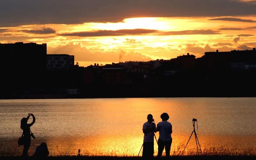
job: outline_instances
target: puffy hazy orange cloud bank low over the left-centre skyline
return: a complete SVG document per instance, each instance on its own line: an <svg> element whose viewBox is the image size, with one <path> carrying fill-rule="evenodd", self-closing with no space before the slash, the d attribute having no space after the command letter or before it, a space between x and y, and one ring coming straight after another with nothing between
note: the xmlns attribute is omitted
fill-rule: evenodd
<svg viewBox="0 0 256 160"><path fill-rule="evenodd" d="M75 61L86 62L118 62L122 52L124 61L150 61L150 57L142 55L138 51L125 51L120 49L102 50L98 48L87 48L81 43L68 43L57 47L47 47L47 54L68 54L75 55Z"/></svg>

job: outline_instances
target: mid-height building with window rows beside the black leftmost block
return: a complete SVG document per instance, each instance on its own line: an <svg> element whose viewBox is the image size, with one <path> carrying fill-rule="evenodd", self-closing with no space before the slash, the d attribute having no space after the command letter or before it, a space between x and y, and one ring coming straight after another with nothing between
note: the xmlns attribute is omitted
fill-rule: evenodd
<svg viewBox="0 0 256 160"><path fill-rule="evenodd" d="M55 69L71 69L74 67L74 55L47 55L46 68L48 70Z"/></svg>

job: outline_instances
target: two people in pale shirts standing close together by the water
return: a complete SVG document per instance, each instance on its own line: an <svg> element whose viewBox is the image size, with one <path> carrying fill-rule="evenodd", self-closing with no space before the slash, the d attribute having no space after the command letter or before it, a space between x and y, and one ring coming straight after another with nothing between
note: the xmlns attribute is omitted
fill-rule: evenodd
<svg viewBox="0 0 256 160"><path fill-rule="evenodd" d="M166 157L170 156L170 150L172 145L172 124L168 122L169 115L167 113L161 114L162 122L157 124L153 123L154 119L152 114L148 114L148 121L143 124L143 151L142 157L154 156L154 135L159 131L158 138L158 154L157 157L161 157L165 148Z"/></svg>

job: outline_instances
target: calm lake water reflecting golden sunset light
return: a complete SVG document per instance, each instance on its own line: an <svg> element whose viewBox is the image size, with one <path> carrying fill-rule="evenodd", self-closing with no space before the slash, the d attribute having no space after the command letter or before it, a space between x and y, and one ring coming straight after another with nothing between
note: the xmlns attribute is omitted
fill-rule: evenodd
<svg viewBox="0 0 256 160"><path fill-rule="evenodd" d="M20 120L34 113L30 155L41 142L51 155L137 155L147 115L158 123L163 112L173 126L172 149L187 143L193 118L202 148L256 146L256 98L31 99L0 100L0 150L21 152ZM192 136L188 148L194 147Z"/></svg>

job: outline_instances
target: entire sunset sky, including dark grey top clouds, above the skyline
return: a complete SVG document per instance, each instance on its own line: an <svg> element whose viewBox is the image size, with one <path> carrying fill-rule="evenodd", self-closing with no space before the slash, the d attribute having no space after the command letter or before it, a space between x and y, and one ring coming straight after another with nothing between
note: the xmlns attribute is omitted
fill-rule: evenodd
<svg viewBox="0 0 256 160"><path fill-rule="evenodd" d="M256 47L255 0L1 0L0 42L93 63Z"/></svg>

